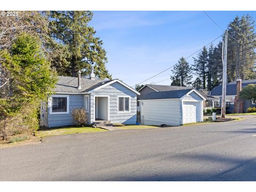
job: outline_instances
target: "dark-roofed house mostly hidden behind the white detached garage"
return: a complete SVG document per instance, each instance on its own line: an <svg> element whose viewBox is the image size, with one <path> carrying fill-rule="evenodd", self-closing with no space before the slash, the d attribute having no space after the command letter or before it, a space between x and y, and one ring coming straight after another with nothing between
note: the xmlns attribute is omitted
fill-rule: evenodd
<svg viewBox="0 0 256 192"><path fill-rule="evenodd" d="M161 92L161 91L173 91L173 90L192 90L194 89L193 87L186 87L186 86L170 86L170 85L151 85L151 84L146 84L141 89L139 90L140 95L138 95L137 99L139 100L140 98L143 98L146 94L151 93L151 92ZM197 90L201 95L205 98L203 101L203 107L204 109L212 109L214 108L214 102L218 101L215 97L201 91ZM215 102L217 105L218 103ZM139 101L137 102L138 110L139 109Z"/></svg>

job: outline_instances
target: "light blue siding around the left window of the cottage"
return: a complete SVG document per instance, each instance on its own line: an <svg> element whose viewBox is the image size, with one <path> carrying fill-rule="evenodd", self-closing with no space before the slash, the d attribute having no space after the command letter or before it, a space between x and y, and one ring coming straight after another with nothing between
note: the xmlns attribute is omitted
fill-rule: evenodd
<svg viewBox="0 0 256 192"><path fill-rule="evenodd" d="M50 102L50 101L49 101ZM68 114L50 114L50 103L48 103L48 127L73 125L71 110L74 107L84 107L84 94L69 94L69 113Z"/></svg>

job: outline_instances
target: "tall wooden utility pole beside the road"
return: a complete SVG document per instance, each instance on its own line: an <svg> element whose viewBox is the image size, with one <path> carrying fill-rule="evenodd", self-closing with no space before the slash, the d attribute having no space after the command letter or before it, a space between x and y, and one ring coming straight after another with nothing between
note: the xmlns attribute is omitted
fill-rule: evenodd
<svg viewBox="0 0 256 192"><path fill-rule="evenodd" d="M225 42L222 42L223 74L222 74L221 118L225 118L225 115L226 115L227 51L228 51L228 30L225 31Z"/></svg>

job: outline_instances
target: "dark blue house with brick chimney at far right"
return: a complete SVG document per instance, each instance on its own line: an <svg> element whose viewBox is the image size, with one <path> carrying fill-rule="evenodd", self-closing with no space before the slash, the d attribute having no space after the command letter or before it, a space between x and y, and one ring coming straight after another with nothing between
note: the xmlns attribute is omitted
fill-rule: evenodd
<svg viewBox="0 0 256 192"><path fill-rule="evenodd" d="M245 113L247 108L256 107L255 103L251 100L239 100L239 92L249 84L256 84L256 79L233 81L227 84L226 87L226 111L228 113ZM238 93L238 94L237 94ZM222 85L215 86L210 95L217 98L218 106L221 107L221 95L222 95ZM237 105L237 107L235 107Z"/></svg>

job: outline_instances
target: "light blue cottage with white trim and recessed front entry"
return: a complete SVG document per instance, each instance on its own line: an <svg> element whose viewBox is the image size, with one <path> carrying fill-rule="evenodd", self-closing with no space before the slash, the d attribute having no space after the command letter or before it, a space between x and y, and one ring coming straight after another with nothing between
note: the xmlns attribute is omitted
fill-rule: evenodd
<svg viewBox="0 0 256 192"><path fill-rule="evenodd" d="M41 126L55 127L75 124L73 108L85 108L88 124L124 123L137 120L137 95L140 93L118 79L95 79L59 76L54 94L41 105Z"/></svg>

